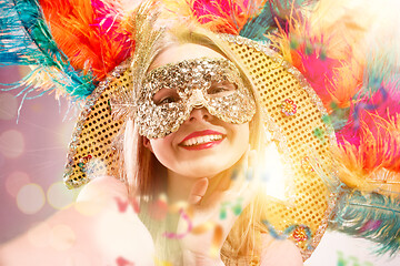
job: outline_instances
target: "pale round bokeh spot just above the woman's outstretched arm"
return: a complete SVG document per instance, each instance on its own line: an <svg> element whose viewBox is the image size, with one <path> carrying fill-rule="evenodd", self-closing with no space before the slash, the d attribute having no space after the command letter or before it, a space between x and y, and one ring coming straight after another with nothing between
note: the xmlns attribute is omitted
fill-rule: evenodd
<svg viewBox="0 0 400 266"><path fill-rule="evenodd" d="M73 203L74 193L72 190L68 190L62 182L57 182L49 187L47 198L50 206L61 209Z"/></svg>

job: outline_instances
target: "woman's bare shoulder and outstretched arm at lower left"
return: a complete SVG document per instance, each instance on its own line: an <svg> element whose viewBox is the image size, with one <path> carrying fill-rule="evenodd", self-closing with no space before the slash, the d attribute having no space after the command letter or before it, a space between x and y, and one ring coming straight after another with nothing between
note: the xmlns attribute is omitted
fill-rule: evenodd
<svg viewBox="0 0 400 266"><path fill-rule="evenodd" d="M77 203L0 249L1 265L153 265L152 238L126 185L97 177Z"/></svg>

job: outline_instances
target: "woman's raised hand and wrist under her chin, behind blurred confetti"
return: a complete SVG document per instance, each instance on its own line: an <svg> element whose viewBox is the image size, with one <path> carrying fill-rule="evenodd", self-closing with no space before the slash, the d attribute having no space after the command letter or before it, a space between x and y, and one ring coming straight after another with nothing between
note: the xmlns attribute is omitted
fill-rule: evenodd
<svg viewBox="0 0 400 266"><path fill-rule="evenodd" d="M231 181L228 191L213 192L202 201L209 186L207 178L199 180L189 196L191 204L182 213L178 233L190 232L181 238L183 265L223 265L220 250L241 211L254 195L252 184L243 178Z"/></svg>

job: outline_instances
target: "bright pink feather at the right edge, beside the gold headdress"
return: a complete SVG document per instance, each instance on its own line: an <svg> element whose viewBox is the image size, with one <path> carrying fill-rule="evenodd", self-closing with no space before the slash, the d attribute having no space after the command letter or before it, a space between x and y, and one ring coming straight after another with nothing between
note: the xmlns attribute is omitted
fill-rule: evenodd
<svg viewBox="0 0 400 266"><path fill-rule="evenodd" d="M337 133L344 149L350 143L361 153L363 168L400 172L400 92L397 82L382 83L372 95L353 104L349 123Z"/></svg>

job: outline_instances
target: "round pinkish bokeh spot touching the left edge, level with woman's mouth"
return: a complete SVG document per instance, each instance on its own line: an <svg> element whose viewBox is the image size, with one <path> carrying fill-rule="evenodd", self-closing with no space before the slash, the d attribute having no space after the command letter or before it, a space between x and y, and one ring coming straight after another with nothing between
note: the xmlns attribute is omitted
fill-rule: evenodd
<svg viewBox="0 0 400 266"><path fill-rule="evenodd" d="M0 152L8 158L16 158L23 153L24 139L21 132L16 130L4 131L0 135Z"/></svg>

